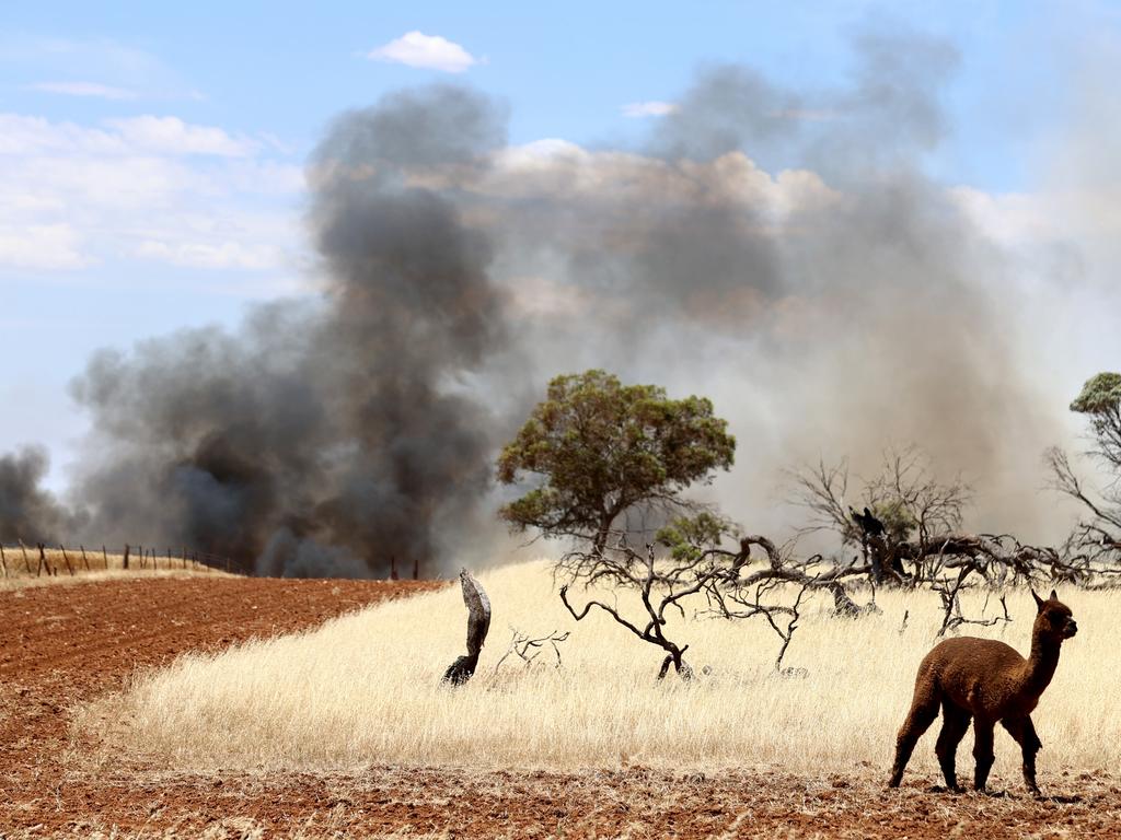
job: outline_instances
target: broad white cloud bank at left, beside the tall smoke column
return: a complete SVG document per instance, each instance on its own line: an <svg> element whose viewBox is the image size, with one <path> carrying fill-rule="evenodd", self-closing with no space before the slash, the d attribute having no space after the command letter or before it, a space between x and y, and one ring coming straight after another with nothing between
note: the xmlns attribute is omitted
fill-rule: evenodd
<svg viewBox="0 0 1121 840"><path fill-rule="evenodd" d="M290 274L304 188L303 168L275 143L216 127L0 113L0 272L160 262L247 282Z"/></svg>

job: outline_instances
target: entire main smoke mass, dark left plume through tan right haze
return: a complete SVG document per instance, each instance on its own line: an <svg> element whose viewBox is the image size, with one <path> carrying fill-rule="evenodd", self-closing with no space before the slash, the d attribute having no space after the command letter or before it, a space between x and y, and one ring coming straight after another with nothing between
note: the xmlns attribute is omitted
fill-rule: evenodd
<svg viewBox="0 0 1121 840"><path fill-rule="evenodd" d="M752 530L784 524L781 468L915 442L975 483L970 524L1055 539L1065 401L1036 392L1007 255L928 174L955 54L879 31L855 56L828 90L706 68L637 149L507 148L454 87L344 114L308 166L323 299L76 382L91 532L267 573L447 569L500 533L489 464L545 382L600 366L714 399L740 441L715 493Z"/></svg>

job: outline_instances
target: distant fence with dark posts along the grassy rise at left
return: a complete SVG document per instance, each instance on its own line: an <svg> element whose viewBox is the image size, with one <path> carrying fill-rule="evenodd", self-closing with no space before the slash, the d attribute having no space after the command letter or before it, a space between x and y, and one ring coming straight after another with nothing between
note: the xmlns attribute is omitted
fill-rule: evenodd
<svg viewBox="0 0 1121 840"><path fill-rule="evenodd" d="M142 543L126 543L121 553L110 554L105 545L101 545L98 550L94 547L86 549L84 544L78 544L77 548L62 544L52 548L41 542L29 547L22 540L15 543L0 542L0 573L4 578L15 577L21 571L27 575L34 573L35 577L43 575L57 577L59 571L74 577L76 571L94 571L99 568L108 571L114 568L110 563L110 558L120 558L121 569L167 571L202 568L207 572L220 570L234 575L247 573L240 563L233 562L224 554L188 550L185 545L178 550L167 547L166 551L160 552Z"/></svg>

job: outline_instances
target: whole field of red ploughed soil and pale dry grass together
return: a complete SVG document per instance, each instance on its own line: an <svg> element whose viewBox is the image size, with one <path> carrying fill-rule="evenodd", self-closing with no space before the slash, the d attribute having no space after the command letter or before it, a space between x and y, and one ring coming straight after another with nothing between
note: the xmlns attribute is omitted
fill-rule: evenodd
<svg viewBox="0 0 1121 840"><path fill-rule="evenodd" d="M572 623L541 564L483 580L495 620L461 690L436 685L464 643L458 591L436 581L136 576L0 591L0 837L1121 834L1112 595L1066 594L1083 629L1037 713L1054 796L1039 801L1003 735L992 782L1007 795L932 787L929 735L886 790L929 601L881 596L868 624L814 605L788 656L800 680L770 675L762 627L688 623L710 673L659 687L657 653L602 617L575 627L562 671L508 660L495 674L506 623ZM386 603L406 596L418 600ZM1011 606L1022 650L1027 597Z"/></svg>

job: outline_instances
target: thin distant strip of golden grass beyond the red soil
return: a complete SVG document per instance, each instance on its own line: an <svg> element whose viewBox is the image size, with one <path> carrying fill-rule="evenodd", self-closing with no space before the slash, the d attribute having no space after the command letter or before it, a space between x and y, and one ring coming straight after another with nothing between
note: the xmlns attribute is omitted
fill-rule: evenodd
<svg viewBox="0 0 1121 840"><path fill-rule="evenodd" d="M180 577L191 575L217 575L203 563L182 558L157 556L155 560L147 558L143 564L133 554L129 558L129 568L124 568L123 554L103 554L101 549L81 550L45 549L46 563L40 562L39 551L34 547L27 549L4 547L3 566L0 567L0 591L24 589L31 586L54 586L59 584L78 584L91 580L113 580L131 577ZM67 564L67 560L70 563Z"/></svg>

